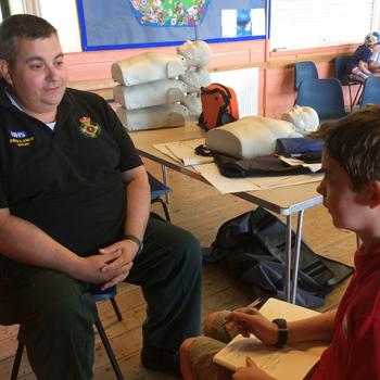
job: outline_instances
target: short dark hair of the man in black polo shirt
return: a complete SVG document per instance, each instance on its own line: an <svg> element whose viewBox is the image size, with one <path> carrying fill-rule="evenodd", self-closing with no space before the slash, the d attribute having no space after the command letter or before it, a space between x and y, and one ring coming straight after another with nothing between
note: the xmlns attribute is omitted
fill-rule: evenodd
<svg viewBox="0 0 380 380"><path fill-rule="evenodd" d="M37 39L58 35L56 29L46 20L31 14L15 14L0 24L0 59L11 66L17 55L21 38Z"/></svg>

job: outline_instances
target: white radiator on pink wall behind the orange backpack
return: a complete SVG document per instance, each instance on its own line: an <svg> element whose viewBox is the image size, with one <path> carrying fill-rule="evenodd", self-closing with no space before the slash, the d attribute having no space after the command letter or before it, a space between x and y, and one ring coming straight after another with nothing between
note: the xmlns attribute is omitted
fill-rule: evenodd
<svg viewBox="0 0 380 380"><path fill-rule="evenodd" d="M231 87L237 94L239 116L258 113L258 67L212 72L213 83Z"/></svg>

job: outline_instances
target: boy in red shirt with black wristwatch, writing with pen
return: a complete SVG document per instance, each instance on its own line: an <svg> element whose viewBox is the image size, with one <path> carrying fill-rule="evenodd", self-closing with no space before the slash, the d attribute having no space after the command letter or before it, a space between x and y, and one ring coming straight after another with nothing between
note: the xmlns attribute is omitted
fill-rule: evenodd
<svg viewBox="0 0 380 380"><path fill-rule="evenodd" d="M354 231L363 242L355 253L355 274L338 309L287 324L273 321L255 308L242 308L227 314L229 322L220 329L217 326L226 313L216 313L208 317L205 333L227 342L237 329L278 349L328 340L329 347L305 379L380 379L380 109L325 123L315 137L325 141L325 177L317 190L334 226ZM254 356L244 355L245 367L235 372L216 366L213 356L224 346L206 337L185 341L183 379L275 378L256 365Z"/></svg>

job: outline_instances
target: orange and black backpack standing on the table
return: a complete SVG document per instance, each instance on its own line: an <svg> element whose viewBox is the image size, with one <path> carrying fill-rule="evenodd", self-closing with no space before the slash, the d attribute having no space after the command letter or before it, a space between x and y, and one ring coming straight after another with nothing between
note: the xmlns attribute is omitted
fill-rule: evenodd
<svg viewBox="0 0 380 380"><path fill-rule="evenodd" d="M235 91L220 84L201 88L202 113L198 125L213 129L239 119L239 106Z"/></svg>

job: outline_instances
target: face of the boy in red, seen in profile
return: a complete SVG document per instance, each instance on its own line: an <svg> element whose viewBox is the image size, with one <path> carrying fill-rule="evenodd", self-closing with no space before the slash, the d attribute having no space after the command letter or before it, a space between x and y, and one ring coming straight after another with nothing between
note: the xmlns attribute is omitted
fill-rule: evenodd
<svg viewBox="0 0 380 380"><path fill-rule="evenodd" d="M322 168L325 176L317 191L324 195L324 205L331 214L334 226L360 231L366 224L364 206L368 186L364 185L359 191L354 191L349 174L326 151L322 154Z"/></svg>

